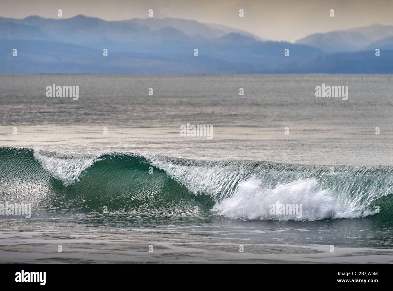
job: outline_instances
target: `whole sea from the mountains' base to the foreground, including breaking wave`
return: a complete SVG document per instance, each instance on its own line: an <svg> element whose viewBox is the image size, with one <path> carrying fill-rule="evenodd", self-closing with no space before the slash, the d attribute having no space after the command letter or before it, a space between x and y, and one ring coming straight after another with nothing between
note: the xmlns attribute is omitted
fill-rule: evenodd
<svg viewBox="0 0 393 291"><path fill-rule="evenodd" d="M392 81L1 75L0 262L392 263Z"/></svg>

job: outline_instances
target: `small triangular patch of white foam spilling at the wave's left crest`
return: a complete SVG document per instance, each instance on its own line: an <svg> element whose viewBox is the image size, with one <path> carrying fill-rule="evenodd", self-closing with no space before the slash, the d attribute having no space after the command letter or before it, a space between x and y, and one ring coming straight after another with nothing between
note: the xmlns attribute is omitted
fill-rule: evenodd
<svg viewBox="0 0 393 291"><path fill-rule="evenodd" d="M40 154L40 149L34 149L34 158L48 171L53 178L59 179L65 186L79 181L84 170L94 164L99 156L58 157Z"/></svg>

